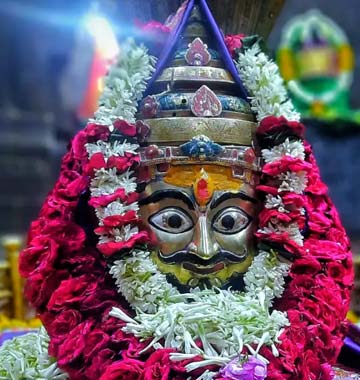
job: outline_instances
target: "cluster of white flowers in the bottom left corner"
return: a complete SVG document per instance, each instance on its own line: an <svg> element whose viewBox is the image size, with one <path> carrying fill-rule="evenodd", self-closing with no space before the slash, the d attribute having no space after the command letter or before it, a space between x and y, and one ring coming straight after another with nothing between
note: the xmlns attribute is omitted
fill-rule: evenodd
<svg viewBox="0 0 360 380"><path fill-rule="evenodd" d="M68 376L48 355L49 337L44 328L8 340L0 347L1 380L65 380Z"/></svg>

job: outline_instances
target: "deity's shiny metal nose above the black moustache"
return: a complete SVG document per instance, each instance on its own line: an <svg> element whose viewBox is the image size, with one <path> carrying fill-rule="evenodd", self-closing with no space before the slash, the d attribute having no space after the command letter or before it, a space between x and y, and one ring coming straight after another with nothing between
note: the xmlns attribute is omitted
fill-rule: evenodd
<svg viewBox="0 0 360 380"><path fill-rule="evenodd" d="M201 215L195 226L192 243L189 244L189 251L200 256L202 259L211 259L215 256L220 247L213 237L211 224L205 215Z"/></svg>

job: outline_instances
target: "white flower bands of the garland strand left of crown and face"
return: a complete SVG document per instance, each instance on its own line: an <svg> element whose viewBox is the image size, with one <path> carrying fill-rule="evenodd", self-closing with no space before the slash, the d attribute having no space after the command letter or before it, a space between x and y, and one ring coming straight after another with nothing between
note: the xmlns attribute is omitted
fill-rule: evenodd
<svg viewBox="0 0 360 380"><path fill-rule="evenodd" d="M105 78L105 89L100 97L100 106L95 113L94 121L107 125L110 130L113 129L113 122L118 119L133 123L137 103L155 71L155 63L155 57L150 56L144 46L136 46L133 40L124 44L120 58ZM102 153L107 162L112 156L124 157L126 153L136 154L139 145L124 140L111 143L97 141L95 144L86 144L85 147L89 158L96 153ZM133 174L130 170L118 174L116 168L96 170L90 183L91 196L112 195L119 188L124 189L125 194L136 191L136 178ZM103 219L107 216L123 215L129 210L137 212L137 202L124 205L120 199L117 199L107 207L95 208L99 225L103 225ZM99 244L127 241L138 232L137 227L130 225L120 229L114 228L109 234L99 236Z"/></svg>

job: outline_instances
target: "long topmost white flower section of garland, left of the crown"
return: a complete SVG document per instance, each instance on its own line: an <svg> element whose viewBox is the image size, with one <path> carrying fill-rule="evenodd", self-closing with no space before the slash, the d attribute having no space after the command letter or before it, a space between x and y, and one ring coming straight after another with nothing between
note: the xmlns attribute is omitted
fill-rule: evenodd
<svg viewBox="0 0 360 380"><path fill-rule="evenodd" d="M134 122L137 102L155 71L155 63L143 45L136 46L133 40L122 45L118 61L105 78L95 122L109 127L117 119Z"/></svg>

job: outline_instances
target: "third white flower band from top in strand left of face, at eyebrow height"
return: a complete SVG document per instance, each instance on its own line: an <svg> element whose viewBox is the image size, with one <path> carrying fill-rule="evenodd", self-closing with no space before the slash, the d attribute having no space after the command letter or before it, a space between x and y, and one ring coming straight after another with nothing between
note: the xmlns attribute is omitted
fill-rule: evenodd
<svg viewBox="0 0 360 380"><path fill-rule="evenodd" d="M136 191L136 186L136 177L133 176L132 171L117 174L116 168L101 168L95 171L95 177L90 183L90 191L93 197L111 195L121 188L128 194Z"/></svg>

